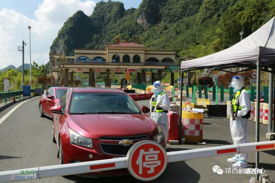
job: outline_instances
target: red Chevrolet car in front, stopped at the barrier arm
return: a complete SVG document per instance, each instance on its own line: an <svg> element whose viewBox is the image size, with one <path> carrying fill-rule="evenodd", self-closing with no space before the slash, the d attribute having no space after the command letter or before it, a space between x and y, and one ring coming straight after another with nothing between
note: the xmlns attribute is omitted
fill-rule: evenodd
<svg viewBox="0 0 275 183"><path fill-rule="evenodd" d="M110 88L69 88L53 106L53 140L59 164L126 157L142 140L165 147L161 128L125 92ZM127 169L82 174L101 177L128 174Z"/></svg>

